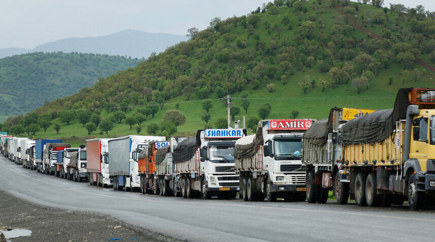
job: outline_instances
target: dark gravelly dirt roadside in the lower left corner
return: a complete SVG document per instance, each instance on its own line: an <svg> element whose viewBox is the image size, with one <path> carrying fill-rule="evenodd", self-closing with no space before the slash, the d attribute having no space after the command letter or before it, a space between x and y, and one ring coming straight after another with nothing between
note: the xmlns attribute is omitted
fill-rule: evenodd
<svg viewBox="0 0 435 242"><path fill-rule="evenodd" d="M0 191L0 230L7 228L32 231L11 241L175 241L109 216L39 206Z"/></svg>

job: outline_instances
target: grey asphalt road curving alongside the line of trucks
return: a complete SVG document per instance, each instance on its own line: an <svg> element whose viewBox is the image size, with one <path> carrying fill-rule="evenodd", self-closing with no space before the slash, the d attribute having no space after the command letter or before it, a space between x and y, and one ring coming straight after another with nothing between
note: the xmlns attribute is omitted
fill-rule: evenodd
<svg viewBox="0 0 435 242"><path fill-rule="evenodd" d="M435 226L434 211L405 206L206 201L119 192L26 170L1 155L0 190L45 206L108 214L191 241L427 241Z"/></svg>

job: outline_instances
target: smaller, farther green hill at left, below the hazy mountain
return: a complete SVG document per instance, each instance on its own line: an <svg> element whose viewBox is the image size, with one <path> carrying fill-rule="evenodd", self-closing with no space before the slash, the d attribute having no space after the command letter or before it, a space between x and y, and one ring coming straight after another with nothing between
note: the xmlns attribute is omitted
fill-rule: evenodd
<svg viewBox="0 0 435 242"><path fill-rule="evenodd" d="M0 59L0 120L25 114L45 102L91 87L100 76L139 61L87 53L33 52Z"/></svg>

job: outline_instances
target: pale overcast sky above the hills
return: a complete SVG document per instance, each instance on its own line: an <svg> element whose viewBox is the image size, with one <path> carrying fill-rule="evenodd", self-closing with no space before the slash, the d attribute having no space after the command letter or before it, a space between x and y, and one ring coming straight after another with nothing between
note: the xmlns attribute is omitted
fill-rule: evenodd
<svg viewBox="0 0 435 242"><path fill-rule="evenodd" d="M0 0L0 48L134 29L185 35L213 17L247 14L265 0ZM435 0L385 0L435 11Z"/></svg>

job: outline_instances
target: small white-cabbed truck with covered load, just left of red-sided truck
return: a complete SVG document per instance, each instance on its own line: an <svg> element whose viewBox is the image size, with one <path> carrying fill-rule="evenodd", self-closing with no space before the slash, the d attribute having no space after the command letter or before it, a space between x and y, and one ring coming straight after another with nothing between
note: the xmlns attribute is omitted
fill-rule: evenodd
<svg viewBox="0 0 435 242"><path fill-rule="evenodd" d="M88 173L86 172L88 164L86 161L86 148L84 145L80 145L77 151L71 152L71 158L67 165L67 179L78 182L88 179Z"/></svg>

